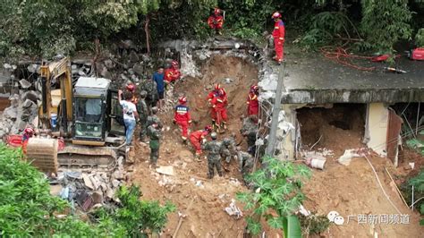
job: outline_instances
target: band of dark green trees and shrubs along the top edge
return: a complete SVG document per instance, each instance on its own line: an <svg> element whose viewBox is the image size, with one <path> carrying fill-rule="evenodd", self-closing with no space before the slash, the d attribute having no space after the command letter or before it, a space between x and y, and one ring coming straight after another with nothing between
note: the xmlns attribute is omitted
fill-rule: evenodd
<svg viewBox="0 0 424 238"><path fill-rule="evenodd" d="M42 56L93 50L131 38L140 47L168 38L206 38L214 7L225 11L225 35L262 41L280 11L288 35L303 46L340 44L393 53L394 45L415 39L423 46L422 0L4 0L0 2L0 55ZM149 40L147 40L149 39ZM347 40L347 42L346 42ZM348 44L350 43L350 44Z"/></svg>

